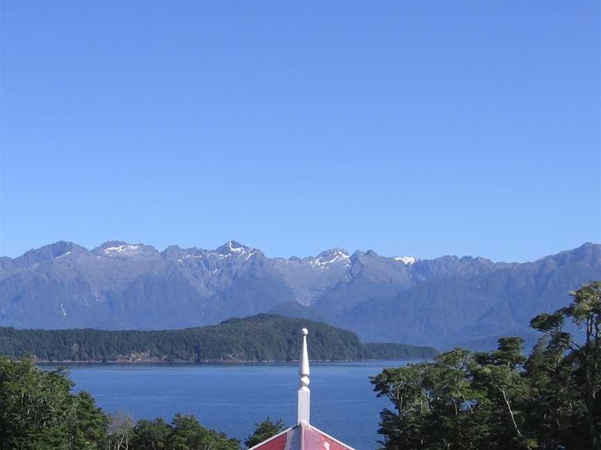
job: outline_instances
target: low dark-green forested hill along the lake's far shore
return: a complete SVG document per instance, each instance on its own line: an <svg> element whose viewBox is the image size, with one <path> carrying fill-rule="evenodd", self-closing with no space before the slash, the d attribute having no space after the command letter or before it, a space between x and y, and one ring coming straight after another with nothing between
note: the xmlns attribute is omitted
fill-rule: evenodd
<svg viewBox="0 0 601 450"><path fill-rule="evenodd" d="M0 354L45 361L294 361L308 328L312 360L431 358L436 350L362 344L355 333L321 322L259 314L202 328L164 331L16 330L0 328Z"/></svg>

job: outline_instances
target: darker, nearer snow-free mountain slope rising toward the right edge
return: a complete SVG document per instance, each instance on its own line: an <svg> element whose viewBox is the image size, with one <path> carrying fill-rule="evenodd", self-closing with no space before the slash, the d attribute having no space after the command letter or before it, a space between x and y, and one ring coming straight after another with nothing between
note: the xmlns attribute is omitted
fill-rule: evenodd
<svg viewBox="0 0 601 450"><path fill-rule="evenodd" d="M528 326L532 317L566 305L570 290L600 278L601 246L585 244L535 263L431 278L394 298L365 301L330 319L374 341L440 348L468 343L483 349L503 335L522 335L531 343L536 337Z"/></svg>

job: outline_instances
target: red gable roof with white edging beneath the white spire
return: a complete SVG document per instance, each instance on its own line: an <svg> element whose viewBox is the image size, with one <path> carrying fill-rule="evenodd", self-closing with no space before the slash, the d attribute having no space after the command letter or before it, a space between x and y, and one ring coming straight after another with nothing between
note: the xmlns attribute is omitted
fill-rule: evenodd
<svg viewBox="0 0 601 450"><path fill-rule="evenodd" d="M323 431L301 422L250 450L354 450Z"/></svg>

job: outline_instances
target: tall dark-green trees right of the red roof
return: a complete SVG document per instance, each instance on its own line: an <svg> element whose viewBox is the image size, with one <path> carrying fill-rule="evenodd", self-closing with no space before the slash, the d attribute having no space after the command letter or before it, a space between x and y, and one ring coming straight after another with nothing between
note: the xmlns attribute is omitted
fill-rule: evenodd
<svg viewBox="0 0 601 450"><path fill-rule="evenodd" d="M392 409L380 414L382 448L446 450L601 449L601 283L532 319L545 333L529 358L520 338L498 349L456 349L432 363L371 378ZM574 322L582 337L563 330Z"/></svg>

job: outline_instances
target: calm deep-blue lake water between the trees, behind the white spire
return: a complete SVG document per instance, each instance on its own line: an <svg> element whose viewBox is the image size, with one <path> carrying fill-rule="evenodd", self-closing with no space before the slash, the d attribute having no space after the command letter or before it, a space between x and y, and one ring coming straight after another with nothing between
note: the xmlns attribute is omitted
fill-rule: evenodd
<svg viewBox="0 0 601 450"><path fill-rule="evenodd" d="M367 378L406 361L312 363L311 422L355 447L372 450L380 410ZM297 365L71 365L76 390L106 412L134 419L193 414L204 426L244 440L267 416L296 423Z"/></svg>

